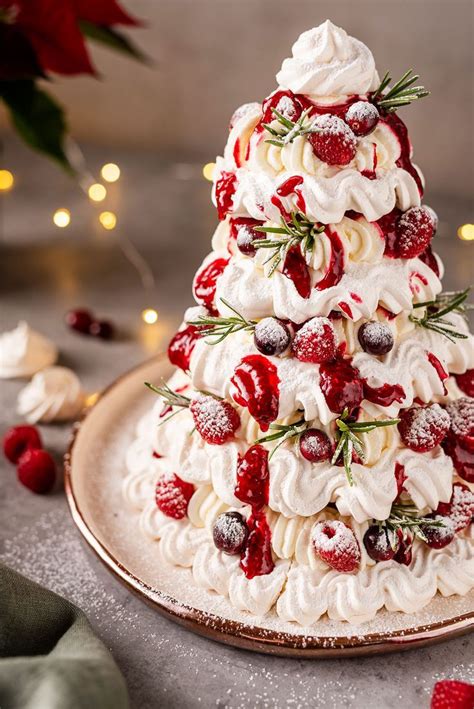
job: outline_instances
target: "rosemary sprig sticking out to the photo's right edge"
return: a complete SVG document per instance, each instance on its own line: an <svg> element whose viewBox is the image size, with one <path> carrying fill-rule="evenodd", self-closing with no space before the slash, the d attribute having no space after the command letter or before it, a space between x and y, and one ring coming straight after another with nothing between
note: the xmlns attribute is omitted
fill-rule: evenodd
<svg viewBox="0 0 474 709"><path fill-rule="evenodd" d="M465 317L466 311L472 308L472 305L465 302L470 290L469 287L463 291L441 293L435 300L416 303L413 307L426 308L425 314L421 318L410 315L409 319L418 327L424 327L427 330L432 330L440 335L444 335L444 337L447 337L451 342L455 342L456 339L466 340L467 335L455 330L453 323L446 320L444 316L456 312Z"/></svg>

